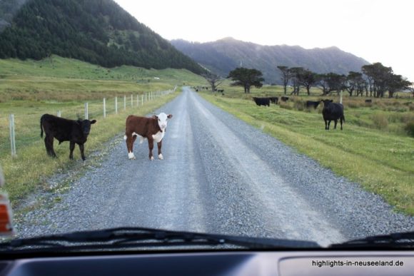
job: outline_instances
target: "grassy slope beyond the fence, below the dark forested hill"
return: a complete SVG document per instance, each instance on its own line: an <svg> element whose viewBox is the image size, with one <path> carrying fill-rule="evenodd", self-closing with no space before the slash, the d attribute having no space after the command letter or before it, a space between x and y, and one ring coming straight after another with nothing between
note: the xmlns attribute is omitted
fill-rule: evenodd
<svg viewBox="0 0 414 276"><path fill-rule="evenodd" d="M125 93L163 91L171 86L202 81L201 76L187 70L147 70L133 66L104 68L59 56L41 61L0 59L0 103L11 100L99 100Z"/></svg>

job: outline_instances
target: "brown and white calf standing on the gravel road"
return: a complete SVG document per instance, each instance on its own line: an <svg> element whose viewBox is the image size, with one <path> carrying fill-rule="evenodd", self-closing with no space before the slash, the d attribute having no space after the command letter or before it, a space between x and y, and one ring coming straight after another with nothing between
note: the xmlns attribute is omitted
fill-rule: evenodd
<svg viewBox="0 0 414 276"><path fill-rule="evenodd" d="M128 158L135 159L133 155L133 142L136 138L139 138L139 143L143 143L143 140L148 139L149 159L153 160L152 150L153 143L158 145L158 158L163 159L161 153L161 145L163 137L166 133L167 119L172 118L171 114L159 113L158 116L152 116L152 118L139 117L130 115L126 118L125 136L126 148L128 149Z"/></svg>

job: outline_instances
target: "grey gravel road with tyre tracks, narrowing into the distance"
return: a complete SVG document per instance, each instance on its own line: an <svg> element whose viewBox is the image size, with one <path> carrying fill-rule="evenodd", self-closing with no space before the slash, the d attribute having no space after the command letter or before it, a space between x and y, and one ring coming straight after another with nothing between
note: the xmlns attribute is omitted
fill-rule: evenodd
<svg viewBox="0 0 414 276"><path fill-rule="evenodd" d="M136 142L136 160L128 160L120 133L100 165L73 181L59 200L41 195L35 210L16 223L18 234L141 226L328 245L414 230L413 217L393 212L377 195L189 88L159 112L173 114L163 138L164 160L148 160L147 141Z"/></svg>

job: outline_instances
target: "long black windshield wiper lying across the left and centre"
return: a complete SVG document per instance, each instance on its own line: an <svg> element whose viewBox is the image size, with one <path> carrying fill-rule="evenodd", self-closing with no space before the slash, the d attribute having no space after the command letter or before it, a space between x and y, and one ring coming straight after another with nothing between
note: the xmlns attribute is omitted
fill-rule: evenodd
<svg viewBox="0 0 414 276"><path fill-rule="evenodd" d="M151 228L111 228L11 240L0 244L0 252L74 251L148 247L226 246L248 249L320 247L316 242L258 237L238 237Z"/></svg>

